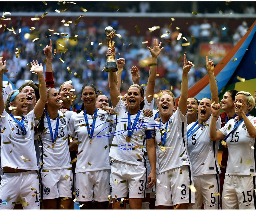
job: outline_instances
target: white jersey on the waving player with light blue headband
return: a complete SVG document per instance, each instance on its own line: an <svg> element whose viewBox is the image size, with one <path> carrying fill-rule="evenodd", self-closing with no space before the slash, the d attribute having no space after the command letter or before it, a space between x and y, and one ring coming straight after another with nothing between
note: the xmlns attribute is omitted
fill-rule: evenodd
<svg viewBox="0 0 256 211"><path fill-rule="evenodd" d="M6 116L5 116L6 115ZM4 110L1 125L1 168L10 167L24 170L38 170L34 146L35 120L34 109L24 116L26 134L21 134L19 126Z"/></svg>

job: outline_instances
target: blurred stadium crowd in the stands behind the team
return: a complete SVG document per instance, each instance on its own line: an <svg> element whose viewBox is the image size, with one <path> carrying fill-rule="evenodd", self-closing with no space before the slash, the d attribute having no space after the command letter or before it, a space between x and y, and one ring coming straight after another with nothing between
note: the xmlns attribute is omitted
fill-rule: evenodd
<svg viewBox="0 0 256 211"><path fill-rule="evenodd" d="M111 9L109 9L111 7L106 3L100 6L102 2L95 2L93 6L92 4L87 4L88 7L78 3L80 2L71 4L73 8L71 9L70 7L67 10L81 11L81 7L84 7L91 12L111 12ZM25 9L22 7L22 3L18 4L15 8L11 7L12 4L13 2L3 4L3 11L40 11L40 8L44 7L46 8L42 9L42 14L45 11L54 11L52 7L46 6L42 2L38 2L38 5L40 4L42 7L35 7L32 4L31 7L25 7ZM154 4L157 6L154 6ZM166 8L164 7L164 2L162 6ZM124 12L151 13L165 11L159 7L157 2L136 2L122 8L125 8ZM175 12L181 12L181 9L183 10L183 8L176 8ZM190 11L186 10L188 8L184 8L182 12L191 13L191 8ZM210 11L203 10L202 12ZM219 8L215 8L211 12L219 13ZM226 7L225 12L255 14L254 3L241 2L241 7L232 9L231 7ZM60 22L59 19L56 19L55 21L44 21L42 24L34 21L34 27L31 27L21 17L17 17L15 22L10 20L5 22L6 25L0 23L0 55L3 57L3 61L8 61L8 72L5 75L9 77L16 87L19 87L26 80L37 82L36 74L31 76L27 64L32 60L38 60L45 67L43 48L49 45L49 40L52 39L53 49L55 49L52 65L56 88L63 82L72 80L76 94L79 96L82 84L90 82L95 84L100 92L109 96L108 73L102 70L106 64L108 48L104 30L106 26L112 26L116 30L117 35L113 39L117 52L116 58L122 57L126 60L124 70L122 71L122 94L125 93L128 86L132 83L130 74L132 66L137 66L140 70L140 83L147 83L149 71L147 59L150 58L150 52L146 47L150 46L152 48L152 41L154 41L154 38L157 38L162 41L164 51L158 57L157 73L159 76L156 81L156 90L172 89L175 96L179 96L183 65L182 62L179 63L177 61L179 61L180 56L184 52L186 52L187 58L193 61L199 55L198 46L200 43L228 42L235 45L249 28L246 21L243 21L241 25L238 25L235 27L235 30L231 31L225 19L223 19L222 25L206 18L199 24L195 19L193 23L190 21L191 24L188 27L188 31L182 34L185 39L190 39L187 42L191 42L191 37L193 36L193 45L183 47L182 43L186 43L185 39L178 39L179 32L175 28L170 27L170 23L158 28L154 35L148 30L145 34L135 36L125 28L124 22L120 22L118 18L114 17L110 19L102 18L102 21L96 20L89 23L83 17L80 17L79 21L72 21L73 23L69 24L66 21ZM19 29L21 31L18 33ZM35 38L39 38L39 41L34 41ZM72 74L68 71L69 69ZM191 68L189 74L189 87L191 87L207 74L205 63L196 64L195 67ZM79 106L77 105L77 107Z"/></svg>

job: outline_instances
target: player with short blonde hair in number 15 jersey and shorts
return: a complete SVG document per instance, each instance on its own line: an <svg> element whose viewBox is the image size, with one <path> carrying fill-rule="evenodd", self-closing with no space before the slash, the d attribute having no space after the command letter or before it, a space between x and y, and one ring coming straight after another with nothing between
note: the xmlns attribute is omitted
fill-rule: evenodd
<svg viewBox="0 0 256 211"><path fill-rule="evenodd" d="M238 92L234 102L238 119L230 119L223 128L216 131L215 122L221 104L212 105L210 139L222 140L222 144L228 147L222 209L256 209L256 118L249 115L254 106L255 101L251 93Z"/></svg>

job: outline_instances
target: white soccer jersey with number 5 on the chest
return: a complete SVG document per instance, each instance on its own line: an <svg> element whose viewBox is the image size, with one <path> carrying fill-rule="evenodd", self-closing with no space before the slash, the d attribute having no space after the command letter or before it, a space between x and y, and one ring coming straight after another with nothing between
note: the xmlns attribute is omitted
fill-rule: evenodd
<svg viewBox="0 0 256 211"><path fill-rule="evenodd" d="M210 127L212 115L193 134L188 137L189 158L192 165L193 176L203 174L219 174L219 162L217 159L219 141L210 140ZM195 124L190 123L187 131ZM198 124L193 128L196 129ZM216 128L221 127L220 117L216 121ZM192 131L193 131L192 130Z"/></svg>

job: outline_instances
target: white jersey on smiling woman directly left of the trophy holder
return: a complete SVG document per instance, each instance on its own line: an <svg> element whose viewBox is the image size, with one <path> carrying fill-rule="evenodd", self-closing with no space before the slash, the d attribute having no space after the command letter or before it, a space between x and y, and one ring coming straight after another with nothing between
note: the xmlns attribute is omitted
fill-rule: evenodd
<svg viewBox="0 0 256 211"><path fill-rule="evenodd" d="M89 127L92 127L93 116L87 115ZM110 169L109 163L109 128L112 125L113 115L98 109L94 133L90 138L87 133L84 111L74 113L68 124L68 134L77 135L78 153L76 173Z"/></svg>

